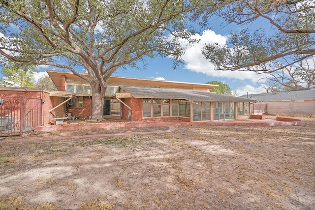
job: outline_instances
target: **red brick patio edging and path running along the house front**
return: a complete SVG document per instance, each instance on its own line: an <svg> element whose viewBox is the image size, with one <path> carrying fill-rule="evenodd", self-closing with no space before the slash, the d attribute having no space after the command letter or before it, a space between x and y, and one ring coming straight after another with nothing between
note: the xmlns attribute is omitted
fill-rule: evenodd
<svg viewBox="0 0 315 210"><path fill-rule="evenodd" d="M151 131L126 131L118 133L98 133L98 134L87 134L87 135L71 135L71 139L89 139L109 136L127 136L127 135L139 135L139 134L156 134L172 132L176 129L176 126L291 126L291 125L303 125L304 120L281 118L276 119L244 119L244 120L224 120L224 121L213 121L213 122L183 122L183 121L169 121L169 122L100 122L100 123L71 123L63 125L49 125L40 126L35 128L35 132L51 132L51 131L77 131L77 130L101 130L106 128L124 129L124 128L141 128L141 127L168 127L167 130L154 130ZM22 136L14 139L6 140L5 137L0 140L0 143L8 142L37 142L37 141L56 141L64 140L69 138L68 136Z"/></svg>

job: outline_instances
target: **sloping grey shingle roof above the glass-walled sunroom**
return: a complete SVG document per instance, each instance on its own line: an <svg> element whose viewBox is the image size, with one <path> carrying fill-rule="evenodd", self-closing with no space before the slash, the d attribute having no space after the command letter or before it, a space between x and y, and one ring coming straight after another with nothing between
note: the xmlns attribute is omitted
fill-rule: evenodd
<svg viewBox="0 0 315 210"><path fill-rule="evenodd" d="M252 99L234 97L229 95L217 94L214 92L200 90L180 90L164 88L140 88L140 87L121 87L126 92L130 92L135 98L174 98L186 99L189 101L209 101L209 102L255 102Z"/></svg>

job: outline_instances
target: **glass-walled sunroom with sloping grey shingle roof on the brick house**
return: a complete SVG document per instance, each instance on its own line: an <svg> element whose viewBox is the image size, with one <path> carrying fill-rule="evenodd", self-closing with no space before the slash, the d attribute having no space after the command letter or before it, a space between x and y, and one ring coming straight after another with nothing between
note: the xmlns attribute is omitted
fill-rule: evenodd
<svg viewBox="0 0 315 210"><path fill-rule="evenodd" d="M191 122L248 119L250 103L255 102L200 90L121 87L121 91L142 99L143 120L175 117ZM132 104L130 107L132 109Z"/></svg>

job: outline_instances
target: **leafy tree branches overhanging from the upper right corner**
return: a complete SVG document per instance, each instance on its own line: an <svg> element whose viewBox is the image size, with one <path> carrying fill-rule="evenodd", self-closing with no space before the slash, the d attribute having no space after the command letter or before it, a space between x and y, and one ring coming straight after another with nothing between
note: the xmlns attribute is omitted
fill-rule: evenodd
<svg viewBox="0 0 315 210"><path fill-rule="evenodd" d="M204 20L217 15L226 24L245 25L230 34L227 45L204 47L203 55L217 70L272 72L285 65L265 69L264 64L290 57L291 65L315 55L314 0L221 0L217 6L204 3L203 8L196 15L204 12ZM246 27L261 23L262 29Z"/></svg>

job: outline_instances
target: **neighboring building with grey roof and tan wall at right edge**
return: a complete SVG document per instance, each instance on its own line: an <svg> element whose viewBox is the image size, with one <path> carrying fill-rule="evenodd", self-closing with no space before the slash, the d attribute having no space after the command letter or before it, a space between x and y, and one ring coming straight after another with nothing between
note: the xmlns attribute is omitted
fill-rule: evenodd
<svg viewBox="0 0 315 210"><path fill-rule="evenodd" d="M257 101L251 105L254 114L315 114L315 90L271 92L240 97Z"/></svg>

